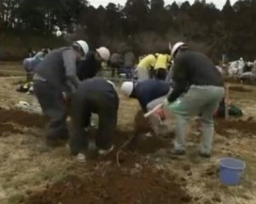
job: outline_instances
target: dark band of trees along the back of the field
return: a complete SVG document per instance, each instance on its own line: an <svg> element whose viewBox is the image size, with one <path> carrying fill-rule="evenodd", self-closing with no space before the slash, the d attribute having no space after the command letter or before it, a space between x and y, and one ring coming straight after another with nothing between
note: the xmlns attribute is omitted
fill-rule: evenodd
<svg viewBox="0 0 256 204"><path fill-rule="evenodd" d="M221 10L205 0L166 6L163 0L127 0L124 6L108 3L106 8L86 0L0 1L1 36L47 39L58 28L67 33L67 42L83 38L90 48L132 48L136 54L160 52L168 42L182 40L215 60L221 54L256 59L255 19L256 0L234 5L227 0Z"/></svg>

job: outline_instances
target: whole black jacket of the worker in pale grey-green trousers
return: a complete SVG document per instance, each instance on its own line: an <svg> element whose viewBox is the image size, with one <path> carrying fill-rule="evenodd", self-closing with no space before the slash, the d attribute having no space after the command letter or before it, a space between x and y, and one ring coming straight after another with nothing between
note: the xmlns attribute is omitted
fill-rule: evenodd
<svg viewBox="0 0 256 204"><path fill-rule="evenodd" d="M181 94L195 86L224 87L224 80L212 60L205 54L184 51L174 59L172 80L174 87L168 100L173 102Z"/></svg>

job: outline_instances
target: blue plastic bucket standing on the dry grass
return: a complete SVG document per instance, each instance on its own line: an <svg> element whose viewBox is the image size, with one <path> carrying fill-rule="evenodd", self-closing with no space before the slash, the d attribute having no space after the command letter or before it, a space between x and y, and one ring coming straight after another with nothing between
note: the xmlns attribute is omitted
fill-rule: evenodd
<svg viewBox="0 0 256 204"><path fill-rule="evenodd" d="M245 162L234 158L222 158L219 161L219 179L222 184L237 185L241 180L241 173L246 167Z"/></svg>

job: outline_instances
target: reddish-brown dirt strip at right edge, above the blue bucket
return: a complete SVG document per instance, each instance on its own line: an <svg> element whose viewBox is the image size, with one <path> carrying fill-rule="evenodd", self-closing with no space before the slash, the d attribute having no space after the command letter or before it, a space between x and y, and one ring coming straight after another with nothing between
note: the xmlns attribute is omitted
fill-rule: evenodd
<svg viewBox="0 0 256 204"><path fill-rule="evenodd" d="M256 122L253 121L251 117L249 117L246 121L237 120L237 121L230 121L224 119L218 119L216 121L216 132L224 135L229 136L233 135L233 133L229 133L229 129L235 129L241 133L256 133Z"/></svg>

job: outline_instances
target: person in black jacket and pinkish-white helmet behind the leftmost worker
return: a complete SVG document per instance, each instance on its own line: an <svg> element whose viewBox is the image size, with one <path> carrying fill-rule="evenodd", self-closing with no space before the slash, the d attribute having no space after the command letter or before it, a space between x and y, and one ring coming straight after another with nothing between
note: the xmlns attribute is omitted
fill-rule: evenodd
<svg viewBox="0 0 256 204"><path fill-rule="evenodd" d="M97 48L96 51L90 51L86 54L86 59L79 62L77 75L82 81L91 77L96 77L98 71L102 68L102 62L108 61L110 52L108 48Z"/></svg>

